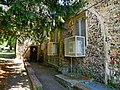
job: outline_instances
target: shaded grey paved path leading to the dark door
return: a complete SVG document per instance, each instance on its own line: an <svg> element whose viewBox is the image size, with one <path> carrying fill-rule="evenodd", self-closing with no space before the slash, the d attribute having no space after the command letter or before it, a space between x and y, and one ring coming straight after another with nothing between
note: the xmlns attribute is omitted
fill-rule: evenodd
<svg viewBox="0 0 120 90"><path fill-rule="evenodd" d="M67 90L55 80L55 75L59 74L54 68L47 64L30 63L37 78L43 85L43 90Z"/></svg>

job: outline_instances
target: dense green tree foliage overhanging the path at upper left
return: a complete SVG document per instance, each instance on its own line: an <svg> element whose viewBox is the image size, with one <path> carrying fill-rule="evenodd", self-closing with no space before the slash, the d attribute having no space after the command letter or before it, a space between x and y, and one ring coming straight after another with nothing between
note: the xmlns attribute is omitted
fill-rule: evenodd
<svg viewBox="0 0 120 90"><path fill-rule="evenodd" d="M6 1L6 2L5 2ZM0 10L0 37L32 38L41 42L84 7L84 0L3 0L8 10Z"/></svg>

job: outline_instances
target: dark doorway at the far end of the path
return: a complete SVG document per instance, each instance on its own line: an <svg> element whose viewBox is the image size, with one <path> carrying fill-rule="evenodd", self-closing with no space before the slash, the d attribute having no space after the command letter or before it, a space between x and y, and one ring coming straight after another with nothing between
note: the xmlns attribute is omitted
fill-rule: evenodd
<svg viewBox="0 0 120 90"><path fill-rule="evenodd" d="M37 46L30 46L30 61L37 62Z"/></svg>

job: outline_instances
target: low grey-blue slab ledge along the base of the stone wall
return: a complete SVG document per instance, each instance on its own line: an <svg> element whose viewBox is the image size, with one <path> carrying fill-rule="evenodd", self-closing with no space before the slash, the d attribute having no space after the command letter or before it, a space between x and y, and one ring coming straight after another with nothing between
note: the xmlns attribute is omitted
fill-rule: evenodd
<svg viewBox="0 0 120 90"><path fill-rule="evenodd" d="M63 74L56 75L55 77L63 86L71 87L73 90L113 90L112 88L108 88L105 84L95 81L77 80Z"/></svg>

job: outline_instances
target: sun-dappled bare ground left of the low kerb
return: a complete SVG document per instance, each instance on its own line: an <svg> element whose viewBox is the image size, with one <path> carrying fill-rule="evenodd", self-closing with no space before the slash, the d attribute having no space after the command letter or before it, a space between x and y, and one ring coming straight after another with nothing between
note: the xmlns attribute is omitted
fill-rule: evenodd
<svg viewBox="0 0 120 90"><path fill-rule="evenodd" d="M0 70L0 90L32 90L22 60L0 59Z"/></svg>

